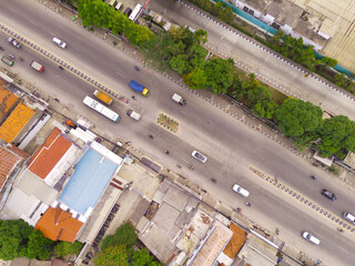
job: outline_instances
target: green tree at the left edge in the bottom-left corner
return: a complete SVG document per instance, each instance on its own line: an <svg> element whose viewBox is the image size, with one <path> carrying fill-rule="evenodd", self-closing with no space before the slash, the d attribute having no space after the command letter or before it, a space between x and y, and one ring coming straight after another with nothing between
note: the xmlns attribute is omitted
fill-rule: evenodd
<svg viewBox="0 0 355 266"><path fill-rule="evenodd" d="M0 258L12 260L27 255L27 242L33 227L23 219L0 221Z"/></svg>

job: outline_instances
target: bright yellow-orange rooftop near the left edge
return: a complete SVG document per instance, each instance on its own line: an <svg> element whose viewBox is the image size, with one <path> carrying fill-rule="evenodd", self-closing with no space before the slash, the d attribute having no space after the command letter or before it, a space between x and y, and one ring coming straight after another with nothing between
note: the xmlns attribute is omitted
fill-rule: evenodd
<svg viewBox="0 0 355 266"><path fill-rule="evenodd" d="M33 110L20 103L0 126L0 139L11 143L33 114Z"/></svg>

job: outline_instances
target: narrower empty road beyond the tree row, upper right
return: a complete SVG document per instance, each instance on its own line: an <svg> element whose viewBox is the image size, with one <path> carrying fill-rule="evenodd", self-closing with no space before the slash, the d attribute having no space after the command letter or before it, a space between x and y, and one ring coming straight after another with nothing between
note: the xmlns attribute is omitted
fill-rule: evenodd
<svg viewBox="0 0 355 266"><path fill-rule="evenodd" d="M197 14L190 8L179 3L179 1L151 1L150 8L161 14L164 13L163 17L171 22L207 31L207 44L210 47L246 65L252 72L267 79L270 82L266 83L274 82L281 85L288 92L286 94L294 93L297 98L310 101L332 114L344 114L351 120L355 120L354 100L332 90L318 80L311 76L305 78L300 70L251 44L246 39L217 25L212 20Z"/></svg>

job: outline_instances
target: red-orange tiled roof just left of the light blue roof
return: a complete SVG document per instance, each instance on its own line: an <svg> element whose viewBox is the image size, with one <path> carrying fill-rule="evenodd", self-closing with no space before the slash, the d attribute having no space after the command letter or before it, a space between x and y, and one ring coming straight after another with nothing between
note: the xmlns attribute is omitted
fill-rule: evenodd
<svg viewBox="0 0 355 266"><path fill-rule="evenodd" d="M60 133L55 127L29 162L29 170L43 180L71 146L71 142Z"/></svg>

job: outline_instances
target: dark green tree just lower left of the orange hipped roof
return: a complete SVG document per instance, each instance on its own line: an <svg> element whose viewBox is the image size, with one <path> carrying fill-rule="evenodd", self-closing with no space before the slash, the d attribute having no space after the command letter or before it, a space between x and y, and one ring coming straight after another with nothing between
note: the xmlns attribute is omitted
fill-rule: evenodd
<svg viewBox="0 0 355 266"><path fill-rule="evenodd" d="M41 231L32 231L29 235L27 257L38 259L50 259L54 242L45 238Z"/></svg>

